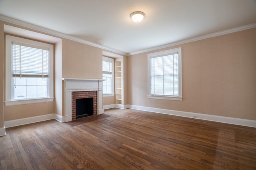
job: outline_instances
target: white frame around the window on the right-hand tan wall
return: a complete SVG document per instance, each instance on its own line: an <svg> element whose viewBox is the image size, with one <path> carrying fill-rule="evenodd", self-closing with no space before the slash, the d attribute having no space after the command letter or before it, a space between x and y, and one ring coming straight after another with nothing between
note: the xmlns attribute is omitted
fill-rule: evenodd
<svg viewBox="0 0 256 170"><path fill-rule="evenodd" d="M178 53L178 78L179 78L179 95L178 96L164 96L164 95L151 95L151 64L150 59L154 57L161 57L168 55L170 53ZM176 49L170 49L165 51L160 51L156 53L148 54L148 98L149 99L163 99L163 100L178 100L182 101L182 55L181 55L181 47Z"/></svg>

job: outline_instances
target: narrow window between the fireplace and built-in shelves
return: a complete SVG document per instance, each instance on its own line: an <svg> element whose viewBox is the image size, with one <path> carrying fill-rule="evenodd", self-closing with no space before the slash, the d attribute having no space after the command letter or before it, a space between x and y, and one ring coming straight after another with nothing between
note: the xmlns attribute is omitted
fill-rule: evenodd
<svg viewBox="0 0 256 170"><path fill-rule="evenodd" d="M103 57L102 59L102 94L114 96L114 59Z"/></svg>

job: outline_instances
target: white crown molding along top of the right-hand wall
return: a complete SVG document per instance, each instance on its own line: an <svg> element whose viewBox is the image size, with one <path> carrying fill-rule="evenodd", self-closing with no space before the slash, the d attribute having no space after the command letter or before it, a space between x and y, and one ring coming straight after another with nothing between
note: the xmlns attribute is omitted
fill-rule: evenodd
<svg viewBox="0 0 256 170"><path fill-rule="evenodd" d="M184 39L184 40L181 40L181 41L176 41L174 43L169 43L169 44L160 45L160 46L157 46L157 47L152 47L152 48L141 50L141 51L136 51L136 52L133 52L133 53L128 53L128 56L136 55L136 54L140 54L140 53L146 53L146 52L149 52L149 51L154 51L154 50L163 49L163 48L167 48L167 47L173 47L175 45L181 45L181 44L190 43L190 42L193 42L193 41L198 41L198 40L207 39L207 38L211 38L211 37L217 37L217 36L220 36L220 35L225 35L225 34L229 34L229 33L243 31L243 30L251 29L251 28L255 28L255 27L256 27L256 23L252 23L252 24L248 24L248 25L244 25L244 26L240 26L240 27L227 29L227 30L224 30L224 31L219 31L219 32L216 32L216 33L210 33L210 34L202 35L202 36L199 36L199 37Z"/></svg>

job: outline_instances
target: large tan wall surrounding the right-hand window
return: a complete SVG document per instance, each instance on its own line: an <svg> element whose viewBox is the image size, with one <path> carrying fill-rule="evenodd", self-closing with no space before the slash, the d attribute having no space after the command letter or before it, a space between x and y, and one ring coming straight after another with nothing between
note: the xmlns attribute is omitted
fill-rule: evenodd
<svg viewBox="0 0 256 170"><path fill-rule="evenodd" d="M256 120L256 28L176 47L183 101L147 98L151 51L128 57L129 104Z"/></svg>

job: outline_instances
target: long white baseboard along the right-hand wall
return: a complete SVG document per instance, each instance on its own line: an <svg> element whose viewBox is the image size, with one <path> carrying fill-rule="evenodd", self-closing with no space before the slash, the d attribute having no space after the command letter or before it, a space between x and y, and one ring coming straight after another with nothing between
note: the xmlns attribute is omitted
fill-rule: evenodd
<svg viewBox="0 0 256 170"><path fill-rule="evenodd" d="M216 115L207 115L207 114L202 114L202 113L193 113L193 112L186 112L186 111L158 109L158 108L154 108L154 107L144 107L144 106L136 106L136 105L127 105L127 107L130 109L150 111L150 112L154 112L154 113L163 113L163 114L168 114L168 115L190 117L190 118L194 118L194 119L216 121L216 122L228 123L228 124L233 124L233 125L256 127L255 120L239 119L239 118L234 118L234 117L224 117L224 116L216 116Z"/></svg>

